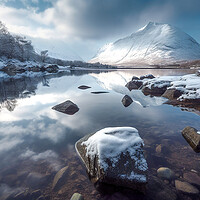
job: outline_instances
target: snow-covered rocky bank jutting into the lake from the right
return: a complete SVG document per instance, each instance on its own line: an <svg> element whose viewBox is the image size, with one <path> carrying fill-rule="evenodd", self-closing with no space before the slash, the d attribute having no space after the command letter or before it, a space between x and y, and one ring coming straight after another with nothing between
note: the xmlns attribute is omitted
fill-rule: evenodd
<svg viewBox="0 0 200 200"><path fill-rule="evenodd" d="M140 89L145 95L168 98L169 104L200 109L200 71L184 76L133 77L126 87Z"/></svg>

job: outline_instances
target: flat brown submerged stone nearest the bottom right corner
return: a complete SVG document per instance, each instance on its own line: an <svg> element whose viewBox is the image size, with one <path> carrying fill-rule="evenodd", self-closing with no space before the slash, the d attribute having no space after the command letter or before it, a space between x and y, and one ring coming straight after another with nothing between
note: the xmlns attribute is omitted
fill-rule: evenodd
<svg viewBox="0 0 200 200"><path fill-rule="evenodd" d="M175 180L176 189L187 194L199 194L199 190L191 184Z"/></svg>

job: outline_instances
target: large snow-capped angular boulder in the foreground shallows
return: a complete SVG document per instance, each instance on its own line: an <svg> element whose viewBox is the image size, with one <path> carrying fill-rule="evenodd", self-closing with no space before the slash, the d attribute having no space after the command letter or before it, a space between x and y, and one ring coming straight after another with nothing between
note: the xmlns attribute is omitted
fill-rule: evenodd
<svg viewBox="0 0 200 200"><path fill-rule="evenodd" d="M137 129L115 127L85 136L76 143L76 150L93 183L144 192L148 166L143 145Z"/></svg>

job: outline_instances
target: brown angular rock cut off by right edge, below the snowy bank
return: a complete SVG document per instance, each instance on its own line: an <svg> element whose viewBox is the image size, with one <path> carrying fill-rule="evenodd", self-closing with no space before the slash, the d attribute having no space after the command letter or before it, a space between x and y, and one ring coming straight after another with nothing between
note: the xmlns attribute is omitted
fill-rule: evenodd
<svg viewBox="0 0 200 200"><path fill-rule="evenodd" d="M183 129L182 135L193 150L197 153L200 152L200 134L195 128L187 126Z"/></svg>

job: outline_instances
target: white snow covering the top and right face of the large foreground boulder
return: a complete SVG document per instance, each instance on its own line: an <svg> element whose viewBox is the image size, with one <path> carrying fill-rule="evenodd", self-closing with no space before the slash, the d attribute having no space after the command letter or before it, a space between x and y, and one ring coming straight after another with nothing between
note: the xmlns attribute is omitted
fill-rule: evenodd
<svg viewBox="0 0 200 200"><path fill-rule="evenodd" d="M113 127L104 128L94 135L90 136L86 141L81 143L86 147L86 156L90 159L99 159L99 166L105 171L109 170L111 164L112 169L119 168L122 154L129 154L132 164L126 161L127 166L131 167L130 173L118 174L121 179L135 180L138 182L146 182L145 173L148 169L147 162L141 149L144 145L143 140L138 134L137 129L132 127ZM109 160L109 161L108 161ZM134 165L134 166L132 166Z"/></svg>

